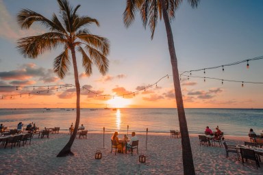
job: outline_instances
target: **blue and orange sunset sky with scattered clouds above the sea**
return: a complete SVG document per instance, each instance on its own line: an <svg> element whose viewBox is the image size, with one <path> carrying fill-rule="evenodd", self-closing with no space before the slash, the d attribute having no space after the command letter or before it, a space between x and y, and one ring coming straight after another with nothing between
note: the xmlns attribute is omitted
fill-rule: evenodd
<svg viewBox="0 0 263 175"><path fill-rule="evenodd" d="M90 25L91 33L110 40L109 71L102 76L93 66L90 77L84 74L82 58L77 54L79 83L82 90L81 107L176 107L170 55L164 22L158 21L153 40L149 27L142 26L140 15L129 27L123 24L125 1L74 0L79 15L96 18L100 26ZM181 4L171 21L179 73L221 66L263 55L263 1L201 0L198 8L187 1ZM75 107L76 94L73 66L64 79L53 73L53 59L61 48L40 55L37 59L24 58L16 49L17 40L47 31L39 23L28 30L20 29L16 15L30 9L50 18L58 14L55 0L0 0L0 108ZM181 90L186 108L263 108L263 59L225 70L193 72L192 76L259 83L227 82L181 77ZM169 75L155 83L162 77ZM189 75L189 74L186 74ZM49 87L38 87L38 86ZM56 85L56 86L53 86ZM62 85L63 88L60 88ZM144 87L153 85L145 90ZM32 86L32 87L28 87ZM35 86L35 87L33 87ZM51 90L54 88L55 90ZM58 88L58 91L57 91ZM34 92L37 91L40 94ZM133 95L133 92L142 90ZM49 91L49 92L48 92ZM122 94L130 94L122 96ZM20 95L21 94L21 95ZM110 95L113 97L105 97ZM116 97L121 95L121 97ZM1 98L3 97L3 98ZM11 98L12 97L12 98Z"/></svg>

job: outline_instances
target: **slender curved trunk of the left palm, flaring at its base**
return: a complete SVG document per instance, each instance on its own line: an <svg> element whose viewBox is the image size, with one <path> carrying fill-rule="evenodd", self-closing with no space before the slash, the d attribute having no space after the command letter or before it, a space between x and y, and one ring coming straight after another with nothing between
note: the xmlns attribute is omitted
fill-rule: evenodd
<svg viewBox="0 0 263 175"><path fill-rule="evenodd" d="M73 142L75 140L75 137L77 135L77 129L79 128L79 118L80 118L80 107L79 107L79 98L80 98L80 87L79 87L79 74L77 72L77 60L76 60L76 54L75 54L75 47L71 46L71 55L73 60L73 68L74 68L74 76L75 76L75 87L77 92L77 117L75 122L75 128L73 131L73 134L71 135L71 138L69 139L68 143L64 148L58 153L57 157L66 157L68 155L73 155L74 153L71 152L71 146L73 145Z"/></svg>

